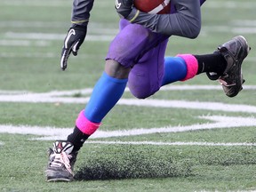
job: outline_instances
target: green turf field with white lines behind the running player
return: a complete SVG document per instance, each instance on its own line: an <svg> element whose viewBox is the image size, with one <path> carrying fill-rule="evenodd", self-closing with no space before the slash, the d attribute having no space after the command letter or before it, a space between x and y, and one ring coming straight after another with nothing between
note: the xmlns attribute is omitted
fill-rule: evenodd
<svg viewBox="0 0 256 192"><path fill-rule="evenodd" d="M256 191L254 0L207 1L200 36L173 36L166 51L203 54L245 36L236 98L204 75L147 100L127 91L81 149L76 180L45 181L47 149L72 131L118 31L115 1L95 1L86 41L61 71L71 2L0 1L0 191Z"/></svg>

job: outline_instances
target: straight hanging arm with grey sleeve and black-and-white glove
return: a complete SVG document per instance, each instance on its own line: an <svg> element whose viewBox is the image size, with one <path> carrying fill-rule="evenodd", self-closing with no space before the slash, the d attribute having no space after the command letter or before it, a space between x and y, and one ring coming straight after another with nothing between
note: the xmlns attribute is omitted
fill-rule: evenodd
<svg viewBox="0 0 256 192"><path fill-rule="evenodd" d="M64 39L61 52L60 68L62 70L65 70L68 66L70 53L72 52L76 56L80 45L84 42L93 2L94 0L73 1L72 25L68 29L68 35Z"/></svg>

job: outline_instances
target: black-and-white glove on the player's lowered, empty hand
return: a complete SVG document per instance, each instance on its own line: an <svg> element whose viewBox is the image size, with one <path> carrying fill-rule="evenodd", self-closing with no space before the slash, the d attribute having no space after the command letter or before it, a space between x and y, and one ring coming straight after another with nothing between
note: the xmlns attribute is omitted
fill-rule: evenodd
<svg viewBox="0 0 256 192"><path fill-rule="evenodd" d="M74 56L77 55L80 45L84 42L86 32L87 28L84 26L75 25L74 27L69 28L61 52L60 68L62 68L62 70L65 70L68 66L68 57L70 53L72 52Z"/></svg>

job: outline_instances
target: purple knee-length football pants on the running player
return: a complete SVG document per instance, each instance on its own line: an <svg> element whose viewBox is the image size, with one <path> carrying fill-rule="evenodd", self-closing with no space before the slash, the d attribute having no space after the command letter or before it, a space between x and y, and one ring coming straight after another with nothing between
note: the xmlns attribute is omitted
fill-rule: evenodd
<svg viewBox="0 0 256 192"><path fill-rule="evenodd" d="M120 32L111 42L106 59L132 68L128 87L135 97L147 98L162 85L167 43L168 36L120 20Z"/></svg>

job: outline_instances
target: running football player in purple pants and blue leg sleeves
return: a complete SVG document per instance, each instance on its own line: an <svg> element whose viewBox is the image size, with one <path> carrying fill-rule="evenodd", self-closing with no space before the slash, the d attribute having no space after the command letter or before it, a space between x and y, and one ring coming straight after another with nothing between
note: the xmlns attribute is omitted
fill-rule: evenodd
<svg viewBox="0 0 256 192"><path fill-rule="evenodd" d="M111 42L105 70L95 84L91 99L79 113L67 140L57 140L50 148L46 169L48 181L74 179L76 156L84 141L95 132L128 85L132 94L145 99L161 86L187 81L201 73L220 80L228 97L242 90L242 62L249 52L244 36L236 36L204 55L179 54L164 57L170 36L196 38L201 29L204 0L172 0L170 14L148 14L132 6L132 0L116 0L120 31ZM68 56L84 42L93 0L74 0L72 26L64 40L60 67L65 70Z"/></svg>

